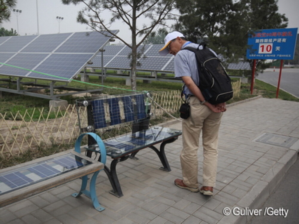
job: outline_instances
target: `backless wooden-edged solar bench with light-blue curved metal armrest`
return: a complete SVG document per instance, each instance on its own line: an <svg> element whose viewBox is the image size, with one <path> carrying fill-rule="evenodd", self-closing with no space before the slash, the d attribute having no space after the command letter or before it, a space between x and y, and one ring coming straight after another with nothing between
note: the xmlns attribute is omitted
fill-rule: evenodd
<svg viewBox="0 0 299 224"><path fill-rule="evenodd" d="M75 143L75 150L53 154L1 169L0 207L74 179L82 178L79 193L74 193L72 196L79 197L81 194L85 194L91 198L96 210L103 211L105 208L97 200L95 181L100 170L104 168L106 157L102 157L100 161L97 161L80 153L80 144L85 135L92 137L101 146L101 154L106 154L100 137L94 133L85 133L78 137ZM90 179L89 191L86 190L88 174L93 174Z"/></svg>

